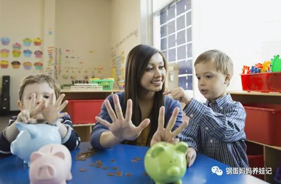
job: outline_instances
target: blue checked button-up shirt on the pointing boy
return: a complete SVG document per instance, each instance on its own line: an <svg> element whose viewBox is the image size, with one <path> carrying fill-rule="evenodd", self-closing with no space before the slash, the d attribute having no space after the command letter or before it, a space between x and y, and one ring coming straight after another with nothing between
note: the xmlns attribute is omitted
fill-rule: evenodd
<svg viewBox="0 0 281 184"><path fill-rule="evenodd" d="M179 135L182 141L196 152L231 167L249 166L244 132L246 113L240 102L233 101L230 94L205 104L193 98L183 111L190 121Z"/></svg>

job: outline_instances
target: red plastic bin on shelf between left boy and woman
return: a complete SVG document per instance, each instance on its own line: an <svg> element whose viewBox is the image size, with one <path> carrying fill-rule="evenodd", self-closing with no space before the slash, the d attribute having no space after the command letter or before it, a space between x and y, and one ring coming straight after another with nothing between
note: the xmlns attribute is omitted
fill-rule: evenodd
<svg viewBox="0 0 281 184"><path fill-rule="evenodd" d="M68 100L67 113L73 124L95 123L103 100Z"/></svg>

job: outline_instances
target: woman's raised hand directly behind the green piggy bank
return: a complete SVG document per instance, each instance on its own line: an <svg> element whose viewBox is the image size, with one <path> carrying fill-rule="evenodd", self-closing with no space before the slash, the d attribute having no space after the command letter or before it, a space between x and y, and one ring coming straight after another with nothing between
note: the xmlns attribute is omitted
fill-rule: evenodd
<svg viewBox="0 0 281 184"><path fill-rule="evenodd" d="M169 142L172 144L179 142L179 139L175 137L187 126L187 122L183 122L180 127L171 132L175 120L178 117L179 111L179 107L175 107L173 109L172 116L169 119L167 127L164 128L165 107L160 107L158 117L158 128L151 139L150 146L160 141Z"/></svg>

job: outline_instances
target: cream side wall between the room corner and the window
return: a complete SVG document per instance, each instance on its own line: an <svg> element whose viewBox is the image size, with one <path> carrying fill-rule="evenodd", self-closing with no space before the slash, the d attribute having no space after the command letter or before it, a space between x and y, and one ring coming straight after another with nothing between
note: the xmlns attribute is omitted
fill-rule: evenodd
<svg viewBox="0 0 281 184"><path fill-rule="evenodd" d="M111 2L111 60L116 80L124 80L129 51L141 44L140 0L113 0Z"/></svg>

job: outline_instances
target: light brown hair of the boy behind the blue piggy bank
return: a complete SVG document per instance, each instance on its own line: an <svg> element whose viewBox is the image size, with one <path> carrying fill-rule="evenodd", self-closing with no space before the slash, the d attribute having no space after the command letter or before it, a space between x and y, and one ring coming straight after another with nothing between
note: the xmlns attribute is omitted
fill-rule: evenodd
<svg viewBox="0 0 281 184"><path fill-rule="evenodd" d="M60 94L60 88L57 85L57 83L55 82L55 80L52 77L50 77L46 74L39 73L39 74L27 76L20 81L19 100L22 101L23 90L24 90L26 85L34 84L34 83L43 83L43 82L48 83L50 88L54 89L56 99L57 99L59 97L59 94Z"/></svg>

